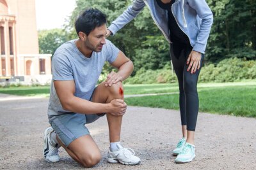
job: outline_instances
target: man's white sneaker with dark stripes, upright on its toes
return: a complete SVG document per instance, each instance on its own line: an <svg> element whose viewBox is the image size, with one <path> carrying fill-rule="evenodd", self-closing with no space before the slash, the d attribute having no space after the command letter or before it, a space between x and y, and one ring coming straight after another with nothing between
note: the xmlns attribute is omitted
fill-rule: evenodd
<svg viewBox="0 0 256 170"><path fill-rule="evenodd" d="M58 162L60 156L58 154L58 146L52 146L50 136L54 130L52 127L48 127L44 131L44 159L47 162Z"/></svg>

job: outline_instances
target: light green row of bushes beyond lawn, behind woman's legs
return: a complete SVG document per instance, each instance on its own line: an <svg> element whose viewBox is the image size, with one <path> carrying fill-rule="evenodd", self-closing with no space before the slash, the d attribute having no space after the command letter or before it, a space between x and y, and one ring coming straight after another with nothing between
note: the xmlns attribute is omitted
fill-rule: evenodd
<svg viewBox="0 0 256 170"><path fill-rule="evenodd" d="M209 64L201 69L200 82L232 82L256 78L256 61L245 59L224 59L216 66ZM125 83L173 83L177 81L170 64L163 69L151 70L141 68L135 76L128 78Z"/></svg>

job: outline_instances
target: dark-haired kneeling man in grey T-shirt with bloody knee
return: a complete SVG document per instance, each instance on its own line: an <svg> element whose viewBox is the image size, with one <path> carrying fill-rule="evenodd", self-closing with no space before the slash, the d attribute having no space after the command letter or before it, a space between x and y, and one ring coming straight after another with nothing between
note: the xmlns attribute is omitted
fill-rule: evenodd
<svg viewBox="0 0 256 170"><path fill-rule="evenodd" d="M44 158L60 160L62 146L72 159L92 167L101 159L100 150L85 124L106 115L110 147L108 162L136 165L140 158L131 148L120 144L124 102L122 81L133 70L131 60L106 39L106 15L97 9L84 11L76 20L79 39L61 45L52 57L52 85L48 117L52 127L44 132ZM104 62L118 72L111 72L96 88Z"/></svg>

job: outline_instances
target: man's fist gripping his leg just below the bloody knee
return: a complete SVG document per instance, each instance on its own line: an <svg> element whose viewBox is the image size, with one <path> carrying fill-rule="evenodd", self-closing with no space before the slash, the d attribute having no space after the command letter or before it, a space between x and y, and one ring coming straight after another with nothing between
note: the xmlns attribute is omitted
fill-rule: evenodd
<svg viewBox="0 0 256 170"><path fill-rule="evenodd" d="M122 116L124 115L127 104L122 99L113 99L110 103L110 110L109 113L113 116Z"/></svg>

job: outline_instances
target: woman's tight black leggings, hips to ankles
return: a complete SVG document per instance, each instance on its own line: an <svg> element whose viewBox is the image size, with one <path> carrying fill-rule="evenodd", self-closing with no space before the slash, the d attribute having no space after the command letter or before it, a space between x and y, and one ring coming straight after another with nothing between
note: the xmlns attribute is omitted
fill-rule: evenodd
<svg viewBox="0 0 256 170"><path fill-rule="evenodd" d="M196 73L191 74L191 70L187 71L189 65L186 64L191 50L192 47L190 45L170 44L173 69L179 81L181 124L187 125L188 131L195 131L199 107L196 85L204 54L200 61L200 69L196 69Z"/></svg>

